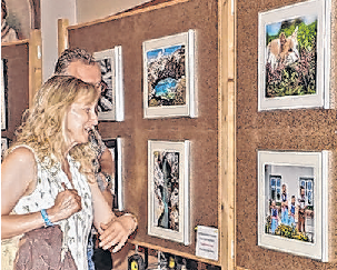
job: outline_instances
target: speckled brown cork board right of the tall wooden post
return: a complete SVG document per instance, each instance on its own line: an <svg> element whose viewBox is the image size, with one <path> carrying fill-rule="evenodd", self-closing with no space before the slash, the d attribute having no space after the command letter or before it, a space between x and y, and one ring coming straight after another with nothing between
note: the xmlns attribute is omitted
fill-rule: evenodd
<svg viewBox="0 0 337 270"><path fill-rule="evenodd" d="M336 7L331 0L330 109L275 109L258 111L258 16L304 1L237 1L237 179L236 264L238 269L336 269ZM330 152L327 181L328 262L258 246L258 151ZM290 194L289 194L290 196ZM289 241L290 244L290 241Z"/></svg>

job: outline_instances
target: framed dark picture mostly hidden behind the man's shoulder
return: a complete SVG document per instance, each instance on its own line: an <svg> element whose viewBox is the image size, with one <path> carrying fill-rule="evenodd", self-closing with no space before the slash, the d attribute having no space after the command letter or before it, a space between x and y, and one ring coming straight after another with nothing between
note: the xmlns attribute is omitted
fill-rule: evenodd
<svg viewBox="0 0 337 270"><path fill-rule="evenodd" d="M107 148L111 152L115 168L113 178L111 179L111 192L113 193L112 208L122 211L123 204L123 181L122 181L122 139L120 137L116 139L103 139Z"/></svg>

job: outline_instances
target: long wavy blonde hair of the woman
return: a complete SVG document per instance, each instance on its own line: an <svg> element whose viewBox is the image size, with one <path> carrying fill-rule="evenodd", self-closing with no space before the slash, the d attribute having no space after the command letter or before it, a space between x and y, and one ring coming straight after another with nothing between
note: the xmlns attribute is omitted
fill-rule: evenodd
<svg viewBox="0 0 337 270"><path fill-rule="evenodd" d="M40 161L50 159L50 168L65 159L66 138L65 118L69 107L79 98L87 97L89 102L97 102L98 91L90 83L70 76L50 78L37 92L31 109L22 117L22 124L16 132L17 146L31 147ZM69 154L80 162L85 174L93 172L92 160L96 158L90 143L75 146Z"/></svg>

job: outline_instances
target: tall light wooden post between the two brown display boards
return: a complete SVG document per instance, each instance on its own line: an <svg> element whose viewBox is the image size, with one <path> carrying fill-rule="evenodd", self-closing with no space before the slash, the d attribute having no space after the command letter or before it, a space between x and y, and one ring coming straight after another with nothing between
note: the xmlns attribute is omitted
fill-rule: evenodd
<svg viewBox="0 0 337 270"><path fill-rule="evenodd" d="M219 239L221 269L235 269L235 1L219 0Z"/></svg>

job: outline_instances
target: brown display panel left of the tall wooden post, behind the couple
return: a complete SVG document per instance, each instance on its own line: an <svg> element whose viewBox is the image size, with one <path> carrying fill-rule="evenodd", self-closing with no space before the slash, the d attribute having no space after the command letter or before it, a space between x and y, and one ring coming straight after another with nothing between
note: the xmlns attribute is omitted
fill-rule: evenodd
<svg viewBox="0 0 337 270"><path fill-rule="evenodd" d="M122 46L125 121L100 122L103 138L123 138L126 206L139 219L136 239L195 253L197 224L218 226L218 2L191 0L131 17L69 29L70 48L90 52ZM142 42L195 29L198 110L196 119L143 119ZM191 141L191 244L147 234L148 140Z"/></svg>

